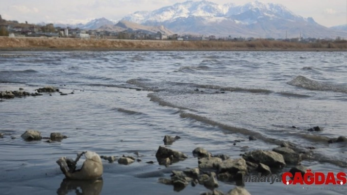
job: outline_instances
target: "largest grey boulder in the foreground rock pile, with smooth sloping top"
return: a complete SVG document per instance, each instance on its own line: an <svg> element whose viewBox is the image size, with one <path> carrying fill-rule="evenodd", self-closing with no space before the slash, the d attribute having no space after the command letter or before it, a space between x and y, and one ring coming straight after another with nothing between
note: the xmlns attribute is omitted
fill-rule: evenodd
<svg viewBox="0 0 347 195"><path fill-rule="evenodd" d="M283 155L273 151L256 150L246 152L243 154L243 158L250 162L263 163L270 168L283 168L286 165Z"/></svg>

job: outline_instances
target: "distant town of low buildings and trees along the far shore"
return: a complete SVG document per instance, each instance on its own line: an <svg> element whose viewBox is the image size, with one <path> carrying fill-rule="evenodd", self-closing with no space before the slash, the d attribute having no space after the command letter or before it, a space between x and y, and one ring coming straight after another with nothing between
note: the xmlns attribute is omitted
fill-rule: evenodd
<svg viewBox="0 0 347 195"><path fill-rule="evenodd" d="M19 23L17 21L5 21L0 16L0 36L8 37L43 37L43 38L76 38L76 39L119 39L119 40L176 40L176 41L254 41L259 38L253 37L216 37L210 36L197 36L197 35L166 35L162 32L149 32L146 30L136 31L107 31L107 30L84 30L79 28L62 28L55 27L54 24L46 24L39 26L35 24ZM320 41L337 41L342 40L337 37L336 39L316 39L316 38L291 38L291 39L273 39L286 42L300 42L300 43L316 43Z"/></svg>

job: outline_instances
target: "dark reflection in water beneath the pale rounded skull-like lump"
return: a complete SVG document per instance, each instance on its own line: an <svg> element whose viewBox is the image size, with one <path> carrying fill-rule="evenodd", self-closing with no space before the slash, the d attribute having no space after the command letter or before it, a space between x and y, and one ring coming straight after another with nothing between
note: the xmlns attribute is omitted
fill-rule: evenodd
<svg viewBox="0 0 347 195"><path fill-rule="evenodd" d="M69 191L74 191L76 195L100 195L102 186L102 178L94 180L71 180L64 178L57 190L57 195L67 195Z"/></svg>

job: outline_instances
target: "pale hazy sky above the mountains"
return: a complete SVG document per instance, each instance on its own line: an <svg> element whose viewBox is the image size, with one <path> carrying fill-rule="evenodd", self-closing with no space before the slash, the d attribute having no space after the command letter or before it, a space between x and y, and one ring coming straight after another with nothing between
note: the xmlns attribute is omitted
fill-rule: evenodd
<svg viewBox="0 0 347 195"><path fill-rule="evenodd" d="M0 15L19 22L89 22L96 18L120 20L135 11L152 11L186 0L0 0ZM195 0L196 1L196 0ZM253 0L209 0L244 4ZM279 3L326 27L347 24L347 0L258 0Z"/></svg>

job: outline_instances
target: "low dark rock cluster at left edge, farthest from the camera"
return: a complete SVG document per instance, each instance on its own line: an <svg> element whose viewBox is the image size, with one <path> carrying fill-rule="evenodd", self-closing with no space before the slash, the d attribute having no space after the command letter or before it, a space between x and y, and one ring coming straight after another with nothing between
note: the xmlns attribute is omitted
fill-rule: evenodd
<svg viewBox="0 0 347 195"><path fill-rule="evenodd" d="M43 88L38 88L35 89L35 93L29 93L24 91L23 88L19 88L18 91L0 91L0 98L4 98L4 99L12 99L15 97L25 97L25 96L38 96L38 95L43 95L42 92L47 92L47 93L51 93L51 92L59 92L59 89L55 89L54 87L43 87Z"/></svg>

